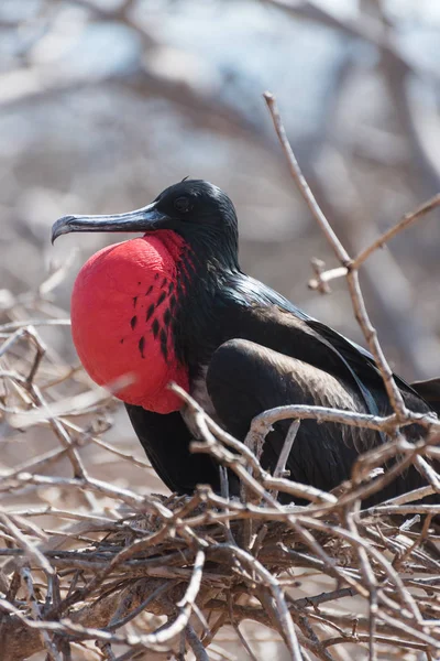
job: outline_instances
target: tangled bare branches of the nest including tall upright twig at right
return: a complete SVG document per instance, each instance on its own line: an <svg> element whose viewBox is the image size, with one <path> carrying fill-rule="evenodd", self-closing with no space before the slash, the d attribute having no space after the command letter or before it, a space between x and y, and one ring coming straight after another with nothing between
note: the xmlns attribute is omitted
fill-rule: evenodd
<svg viewBox="0 0 440 661"><path fill-rule="evenodd" d="M58 446L15 460L0 476L6 661L37 651L56 661L165 659L170 653L218 659L227 654L215 641L226 625L255 658L240 628L244 621L275 631L295 661L343 660L348 653L361 658L365 650L370 659L440 654L440 506L418 502L440 492L430 464L440 455L440 423L435 414L413 413L402 401L359 288L363 258L350 259L321 215L284 140L274 100L267 100L293 173L341 261L337 274L349 280L354 312L394 412L381 418L282 407L255 419L242 444L173 386L200 433L193 451L208 453L235 473L241 497L229 497L227 479L221 495L204 485L186 497L128 488L95 477L95 466L85 460L88 446L98 445L119 462L147 470L146 462L101 437L109 427L111 397L90 391L82 372L46 350L37 330L37 325L68 323L47 302L57 277L35 295L10 301L0 327L4 438L18 430L43 429ZM438 204L435 198L429 208ZM373 249L366 249L366 257ZM331 279L322 271L319 278L322 283ZM38 321L32 323L35 313ZM309 418L380 430L389 441L359 458L350 481L324 492L285 475L300 421ZM294 422L270 475L260 464L261 447L271 425L283 419ZM428 433L409 443L405 427L415 422ZM384 472L392 458L393 468ZM68 463L67 475L54 469L61 462ZM410 464L425 475L427 487L363 509L365 498ZM278 494L309 505L282 506ZM38 499L38 507L30 507Z"/></svg>

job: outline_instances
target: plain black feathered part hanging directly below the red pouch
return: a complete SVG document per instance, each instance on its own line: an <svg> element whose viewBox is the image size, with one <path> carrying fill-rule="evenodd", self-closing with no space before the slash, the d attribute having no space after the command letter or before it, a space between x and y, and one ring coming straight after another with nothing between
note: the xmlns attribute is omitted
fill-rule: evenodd
<svg viewBox="0 0 440 661"><path fill-rule="evenodd" d="M219 469L204 454L191 454L193 436L180 413L153 413L125 404L133 429L154 470L172 491L191 494L197 484L220 488Z"/></svg>

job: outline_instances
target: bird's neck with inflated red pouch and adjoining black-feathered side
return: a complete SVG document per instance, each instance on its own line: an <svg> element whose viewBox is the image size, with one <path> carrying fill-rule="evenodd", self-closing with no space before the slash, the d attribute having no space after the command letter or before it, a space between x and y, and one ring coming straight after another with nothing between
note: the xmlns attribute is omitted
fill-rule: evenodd
<svg viewBox="0 0 440 661"><path fill-rule="evenodd" d="M89 376L106 386L129 375L133 382L117 393L124 402L178 410L182 401L167 386L188 390L197 365L216 348L221 281L218 264L170 230L94 254L72 297L74 343Z"/></svg>

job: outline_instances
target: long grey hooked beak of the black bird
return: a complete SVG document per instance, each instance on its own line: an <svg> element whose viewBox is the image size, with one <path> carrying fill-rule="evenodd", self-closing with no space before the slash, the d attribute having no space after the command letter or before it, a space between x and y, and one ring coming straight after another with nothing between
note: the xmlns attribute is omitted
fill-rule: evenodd
<svg viewBox="0 0 440 661"><path fill-rule="evenodd" d="M73 231L148 231L158 229L158 223L167 216L158 212L155 203L142 209L112 216L63 216L52 226L52 243L63 234Z"/></svg>

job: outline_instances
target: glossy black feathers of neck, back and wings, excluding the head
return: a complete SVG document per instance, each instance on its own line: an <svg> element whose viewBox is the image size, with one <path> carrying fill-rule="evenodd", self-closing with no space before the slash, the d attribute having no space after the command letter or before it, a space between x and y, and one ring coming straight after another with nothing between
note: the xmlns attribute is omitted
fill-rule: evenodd
<svg viewBox="0 0 440 661"><path fill-rule="evenodd" d="M202 378L208 368L209 394L215 413L224 426L243 440L252 418L267 408L285 403L337 407L338 402L344 408L341 391L354 402L349 408L372 414L389 413L382 377L371 354L310 317L278 292L242 273L237 259L235 230L229 239L223 239L221 234L234 227L232 204L229 206L222 198L221 214L216 218L208 225L205 220L193 219L190 225L176 226L190 247L185 271L190 272L191 278L186 293L180 291L172 327L176 354L188 366L193 383ZM261 347L253 362L237 347L222 351L224 343L237 339ZM274 355L267 349L276 353L277 369L273 369ZM329 378L321 381L317 378L315 389L309 388L298 381L295 359L306 366L312 377L328 375ZM253 375L252 378L248 378L249 375ZM408 407L415 411L430 410L416 390L402 378L395 378ZM174 421L177 421L176 415L179 414L172 414ZM134 429L164 481L180 492L190 491L198 483L218 485L212 466L185 459L190 433L180 422L175 430L179 438L175 441L178 452L165 449L170 448L165 418L168 416L156 415L153 427L148 427L152 418L142 413L136 419L131 415ZM279 423L267 437L263 455L265 467L274 468L287 427L287 422ZM407 432L417 438L421 430L413 427ZM288 468L293 479L331 489L350 476L360 451L384 441L385 437L375 432L360 433L353 427L304 422ZM420 484L425 483L419 474L410 469L404 478L395 480L387 495Z"/></svg>

